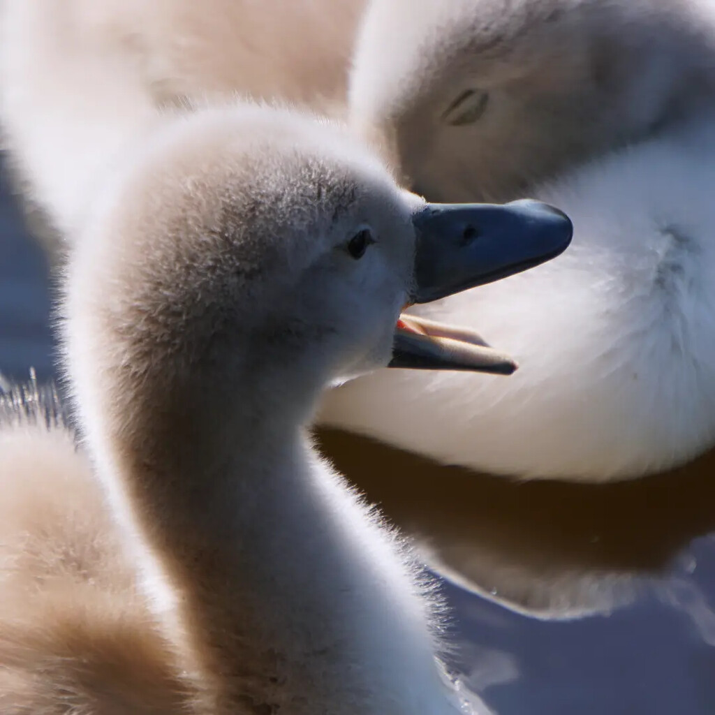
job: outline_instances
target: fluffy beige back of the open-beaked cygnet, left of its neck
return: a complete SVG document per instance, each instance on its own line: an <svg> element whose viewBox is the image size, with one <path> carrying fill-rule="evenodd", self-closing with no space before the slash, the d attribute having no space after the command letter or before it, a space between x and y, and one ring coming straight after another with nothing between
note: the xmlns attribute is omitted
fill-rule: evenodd
<svg viewBox="0 0 715 715"><path fill-rule="evenodd" d="M0 396L0 709L158 715L190 695L56 395Z"/></svg>

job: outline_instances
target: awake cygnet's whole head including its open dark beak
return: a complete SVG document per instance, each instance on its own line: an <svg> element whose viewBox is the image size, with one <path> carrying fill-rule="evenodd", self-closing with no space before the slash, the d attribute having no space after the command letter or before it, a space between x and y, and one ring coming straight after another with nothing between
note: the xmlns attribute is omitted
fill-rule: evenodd
<svg viewBox="0 0 715 715"><path fill-rule="evenodd" d="M472 231L476 246L465 242ZM146 385L220 403L209 385L223 393L239 380L260 395L258 412L294 419L292 390L393 355L511 372L479 340L432 339L412 319L396 341L400 310L551 257L571 225L537 202L425 205L341 129L240 107L177 119L149 142L87 233L67 304L79 389L103 363L116 370L119 403ZM436 270L420 270L420 255ZM444 337L454 340L444 347Z"/></svg>

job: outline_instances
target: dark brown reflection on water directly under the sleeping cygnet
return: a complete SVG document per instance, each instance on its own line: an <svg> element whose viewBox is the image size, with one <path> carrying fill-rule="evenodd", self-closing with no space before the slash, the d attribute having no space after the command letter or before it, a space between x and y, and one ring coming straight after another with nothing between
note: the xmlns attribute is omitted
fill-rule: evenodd
<svg viewBox="0 0 715 715"><path fill-rule="evenodd" d="M715 453L648 479L589 485L443 467L337 430L320 438L440 571L551 617L569 612L565 581L608 575L615 584L662 571L690 541L715 531ZM558 593L550 593L553 582ZM595 606L578 603L588 596L572 593L573 607Z"/></svg>

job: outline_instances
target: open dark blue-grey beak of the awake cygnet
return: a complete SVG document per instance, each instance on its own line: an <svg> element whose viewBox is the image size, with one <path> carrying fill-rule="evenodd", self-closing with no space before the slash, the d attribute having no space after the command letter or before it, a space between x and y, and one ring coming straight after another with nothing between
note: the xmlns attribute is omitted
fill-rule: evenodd
<svg viewBox="0 0 715 715"><path fill-rule="evenodd" d="M573 235L566 214L531 199L427 204L414 223L418 238L412 303L438 300L551 260ZM511 375L517 365L475 332L401 315L390 367Z"/></svg>

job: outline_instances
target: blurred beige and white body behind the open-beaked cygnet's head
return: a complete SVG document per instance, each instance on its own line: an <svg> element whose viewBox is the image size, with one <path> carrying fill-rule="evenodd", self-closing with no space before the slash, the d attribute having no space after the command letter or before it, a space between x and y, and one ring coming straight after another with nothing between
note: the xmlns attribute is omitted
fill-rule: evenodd
<svg viewBox="0 0 715 715"><path fill-rule="evenodd" d="M39 232L60 252L74 240L97 172L156 107L240 95L342 113L362 11L363 0L4 1L0 125Z"/></svg>

